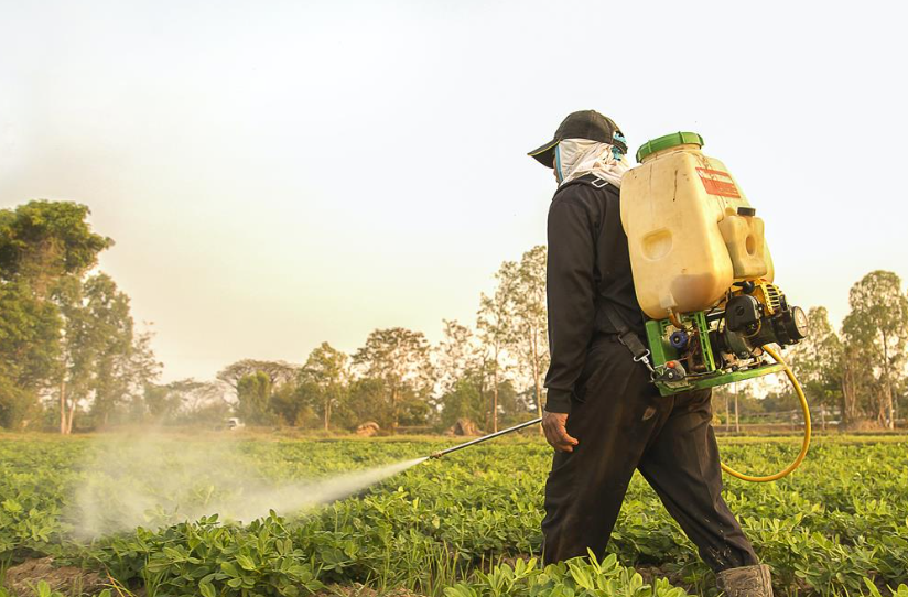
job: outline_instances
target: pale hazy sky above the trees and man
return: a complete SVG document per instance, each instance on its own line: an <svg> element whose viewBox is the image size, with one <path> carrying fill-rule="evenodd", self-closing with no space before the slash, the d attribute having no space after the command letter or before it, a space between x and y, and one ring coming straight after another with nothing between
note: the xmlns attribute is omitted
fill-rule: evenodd
<svg viewBox="0 0 908 597"><path fill-rule="evenodd" d="M884 2L0 0L0 207L87 204L164 379L473 323L545 241L526 152L594 108L735 174L777 283L908 281L908 43Z"/></svg>

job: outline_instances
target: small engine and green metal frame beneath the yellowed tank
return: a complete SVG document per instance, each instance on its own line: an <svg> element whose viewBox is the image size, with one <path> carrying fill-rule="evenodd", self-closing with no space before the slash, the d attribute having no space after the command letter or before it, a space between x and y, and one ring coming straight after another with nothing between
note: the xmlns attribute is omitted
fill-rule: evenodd
<svg viewBox="0 0 908 597"><path fill-rule="evenodd" d="M803 310L778 286L738 282L712 310L647 322L653 381L671 395L781 371L763 347L798 344L807 334Z"/></svg>

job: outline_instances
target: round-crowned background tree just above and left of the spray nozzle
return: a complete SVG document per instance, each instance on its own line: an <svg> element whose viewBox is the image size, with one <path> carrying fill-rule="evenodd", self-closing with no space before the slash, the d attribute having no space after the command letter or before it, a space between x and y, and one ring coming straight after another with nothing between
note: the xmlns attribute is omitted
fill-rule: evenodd
<svg viewBox="0 0 908 597"><path fill-rule="evenodd" d="M412 423L418 422L420 412L423 416L428 414L432 363L429 343L421 332L402 327L376 329L353 361L366 377L381 381L392 432L397 432L402 416Z"/></svg>

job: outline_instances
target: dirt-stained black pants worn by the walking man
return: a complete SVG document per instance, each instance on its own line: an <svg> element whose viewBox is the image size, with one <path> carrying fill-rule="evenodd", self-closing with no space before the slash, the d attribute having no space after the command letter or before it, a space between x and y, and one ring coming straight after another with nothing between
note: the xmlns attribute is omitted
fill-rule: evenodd
<svg viewBox="0 0 908 597"><path fill-rule="evenodd" d="M715 572L757 556L722 499L711 391L660 397L615 336L593 344L572 397L568 433L545 484L544 560L602 556L635 469Z"/></svg>

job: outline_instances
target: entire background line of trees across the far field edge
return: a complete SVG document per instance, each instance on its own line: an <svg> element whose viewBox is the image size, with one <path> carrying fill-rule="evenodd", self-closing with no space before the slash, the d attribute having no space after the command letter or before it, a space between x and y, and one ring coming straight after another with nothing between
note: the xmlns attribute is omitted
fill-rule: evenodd
<svg viewBox="0 0 908 597"><path fill-rule="evenodd" d="M160 383L150 333L137 330L129 297L97 271L114 241L91 231L88 214L46 200L0 210L0 426L66 434L238 416L324 430L372 421L392 433L465 419L497 431L541 414L545 247L505 261L475 321L443 321L435 346L421 332L376 329L349 355L325 341L302 363L244 359L214 380ZM846 425L891 427L908 405L908 296L896 274L875 271L852 287L850 306L841 330L824 307L811 308L811 335L788 359L812 404ZM754 410L796 405L786 389L744 399Z"/></svg>

